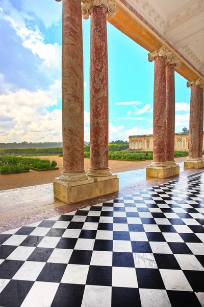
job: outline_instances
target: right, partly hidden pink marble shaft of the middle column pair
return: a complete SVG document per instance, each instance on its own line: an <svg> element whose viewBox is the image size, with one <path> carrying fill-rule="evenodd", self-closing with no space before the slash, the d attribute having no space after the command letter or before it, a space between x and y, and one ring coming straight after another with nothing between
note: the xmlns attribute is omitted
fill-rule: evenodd
<svg viewBox="0 0 204 307"><path fill-rule="evenodd" d="M174 162L175 88L174 64L166 64L166 162ZM174 162L175 163L175 162Z"/></svg>

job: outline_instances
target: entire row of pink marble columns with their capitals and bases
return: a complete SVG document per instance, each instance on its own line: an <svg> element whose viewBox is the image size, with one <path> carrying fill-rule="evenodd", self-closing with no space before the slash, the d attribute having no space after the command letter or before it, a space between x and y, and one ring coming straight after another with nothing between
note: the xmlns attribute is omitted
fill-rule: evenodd
<svg viewBox="0 0 204 307"><path fill-rule="evenodd" d="M61 0L56 0L60 2ZM77 202L118 191L108 161L108 52L107 15L113 17L111 0L63 0L62 17L62 130L63 164L54 181L54 194L64 202ZM90 168L84 170L84 83L82 17L91 16L90 48ZM174 161L174 68L180 60L161 47L148 54L155 60L154 158L147 167L150 177L165 178L179 173ZM189 159L201 159L202 89L200 79L191 86ZM191 139L193 140L191 142ZM165 140L165 142L164 142ZM168 150L166 150L168 148ZM88 185L88 186L87 186Z"/></svg>

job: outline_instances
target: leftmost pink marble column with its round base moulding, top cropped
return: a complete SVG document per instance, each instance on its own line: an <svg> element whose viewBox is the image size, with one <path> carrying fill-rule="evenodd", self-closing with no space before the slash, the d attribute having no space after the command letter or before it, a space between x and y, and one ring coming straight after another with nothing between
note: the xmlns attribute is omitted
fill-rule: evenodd
<svg viewBox="0 0 204 307"><path fill-rule="evenodd" d="M88 179L84 170L84 76L81 0L63 0L63 171L60 179Z"/></svg>

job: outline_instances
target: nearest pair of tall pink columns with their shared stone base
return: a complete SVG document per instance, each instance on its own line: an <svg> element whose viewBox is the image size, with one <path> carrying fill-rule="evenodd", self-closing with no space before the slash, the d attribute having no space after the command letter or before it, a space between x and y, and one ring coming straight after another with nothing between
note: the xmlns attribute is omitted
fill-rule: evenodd
<svg viewBox="0 0 204 307"><path fill-rule="evenodd" d="M60 2L61 0L56 0ZM63 0L62 131L63 171L54 181L54 195L77 202L118 191L118 178L108 160L107 15L110 0ZM90 168L84 170L84 80L82 17L91 17L90 47Z"/></svg>

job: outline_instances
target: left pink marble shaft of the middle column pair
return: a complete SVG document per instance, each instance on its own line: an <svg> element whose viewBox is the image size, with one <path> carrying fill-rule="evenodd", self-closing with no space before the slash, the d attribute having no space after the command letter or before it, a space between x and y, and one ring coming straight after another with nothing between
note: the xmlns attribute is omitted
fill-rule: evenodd
<svg viewBox="0 0 204 307"><path fill-rule="evenodd" d="M166 59L155 57L154 111L153 111L153 163L165 163L166 140Z"/></svg>

